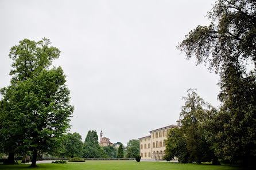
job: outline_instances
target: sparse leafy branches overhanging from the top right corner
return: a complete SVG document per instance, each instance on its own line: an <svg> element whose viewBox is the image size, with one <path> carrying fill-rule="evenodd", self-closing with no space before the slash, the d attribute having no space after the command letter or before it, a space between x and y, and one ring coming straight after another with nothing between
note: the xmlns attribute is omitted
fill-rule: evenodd
<svg viewBox="0 0 256 170"><path fill-rule="evenodd" d="M219 72L226 64L256 64L256 2L253 0L219 0L208 13L211 24L197 26L177 48L197 64L209 64Z"/></svg>

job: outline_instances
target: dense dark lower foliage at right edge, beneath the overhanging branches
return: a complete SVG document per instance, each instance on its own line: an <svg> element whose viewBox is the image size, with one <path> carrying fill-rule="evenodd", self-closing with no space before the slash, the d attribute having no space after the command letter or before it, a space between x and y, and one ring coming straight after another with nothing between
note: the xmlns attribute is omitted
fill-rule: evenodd
<svg viewBox="0 0 256 170"><path fill-rule="evenodd" d="M232 163L242 160L243 164L249 164L255 159L255 80L255 74L243 77L235 66L228 66L222 74L219 98L223 105L214 117L218 127L211 132L211 139L215 142L216 154Z"/></svg>

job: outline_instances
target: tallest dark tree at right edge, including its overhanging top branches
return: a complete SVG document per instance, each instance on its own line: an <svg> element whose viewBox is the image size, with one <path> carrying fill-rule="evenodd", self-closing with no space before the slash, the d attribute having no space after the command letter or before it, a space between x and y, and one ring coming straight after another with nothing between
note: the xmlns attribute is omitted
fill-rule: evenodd
<svg viewBox="0 0 256 170"><path fill-rule="evenodd" d="M211 140L216 155L247 164L256 156L256 1L219 0L208 18L210 25L197 26L177 48L220 75Z"/></svg>

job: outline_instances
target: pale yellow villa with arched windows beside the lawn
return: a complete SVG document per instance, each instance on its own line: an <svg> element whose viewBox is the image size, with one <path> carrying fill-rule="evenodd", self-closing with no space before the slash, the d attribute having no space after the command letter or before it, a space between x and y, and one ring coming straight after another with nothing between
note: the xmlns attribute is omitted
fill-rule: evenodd
<svg viewBox="0 0 256 170"><path fill-rule="evenodd" d="M171 128L179 125L169 125L149 131L150 135L139 138L140 153L142 160L162 160L165 155L165 139L167 132Z"/></svg>

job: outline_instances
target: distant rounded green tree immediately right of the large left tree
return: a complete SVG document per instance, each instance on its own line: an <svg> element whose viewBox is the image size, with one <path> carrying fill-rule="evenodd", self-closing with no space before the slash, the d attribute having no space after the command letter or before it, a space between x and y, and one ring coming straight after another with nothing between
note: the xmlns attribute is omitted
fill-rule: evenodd
<svg viewBox="0 0 256 170"><path fill-rule="evenodd" d="M65 157L80 157L83 149L82 136L75 132L68 133L65 137L64 153L61 153L61 155Z"/></svg>

